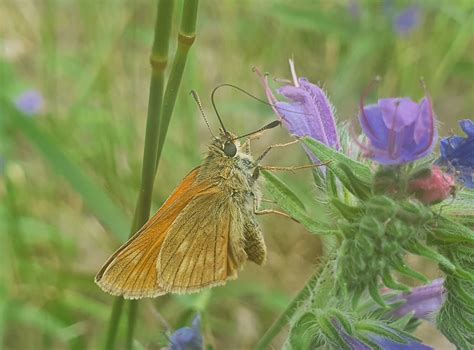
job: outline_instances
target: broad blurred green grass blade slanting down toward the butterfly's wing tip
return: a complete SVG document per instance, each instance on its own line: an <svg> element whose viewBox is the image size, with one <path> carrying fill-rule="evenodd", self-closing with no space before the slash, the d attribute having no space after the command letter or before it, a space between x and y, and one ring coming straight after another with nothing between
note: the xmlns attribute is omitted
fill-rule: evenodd
<svg viewBox="0 0 474 350"><path fill-rule="evenodd" d="M24 116L4 98L0 98L0 114L9 117L10 123L20 130L49 162L53 172L62 175L81 195L87 207L99 221L110 229L120 241L125 241L129 234L129 218L115 205L107 192L87 176L82 168L71 161L66 153L57 146L59 142L44 133L38 128L34 119Z"/></svg>

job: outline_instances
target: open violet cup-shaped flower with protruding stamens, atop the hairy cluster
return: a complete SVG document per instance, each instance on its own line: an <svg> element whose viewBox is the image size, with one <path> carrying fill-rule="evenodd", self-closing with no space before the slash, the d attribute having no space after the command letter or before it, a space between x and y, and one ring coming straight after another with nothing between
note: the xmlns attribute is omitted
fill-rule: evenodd
<svg viewBox="0 0 474 350"><path fill-rule="evenodd" d="M400 165L426 157L438 137L431 100L385 98L363 106L360 124L369 139L365 156L384 165Z"/></svg>

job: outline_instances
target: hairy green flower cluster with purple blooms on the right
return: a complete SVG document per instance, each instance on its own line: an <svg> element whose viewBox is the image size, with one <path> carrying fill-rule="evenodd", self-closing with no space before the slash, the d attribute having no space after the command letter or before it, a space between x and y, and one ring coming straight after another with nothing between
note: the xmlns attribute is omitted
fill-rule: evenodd
<svg viewBox="0 0 474 350"><path fill-rule="evenodd" d="M463 223L474 222L473 215L466 214L461 222L441 214L441 209L465 208L455 200L456 180L464 185L461 196L474 187L473 121L460 122L467 137L441 140L441 157L434 162L438 130L428 95L419 102L397 97L376 104L365 104L364 97L358 118L364 137L349 138L336 128L325 92L297 77L292 61L290 68L292 84L277 89L283 100L275 97L267 76L259 76L289 133L302 141L314 163L326 164L321 194L339 219L338 244L324 267L326 277L310 288L313 302L302 303L294 316L288 343L303 348L330 344L347 349L430 349L408 335L416 320L427 319L459 348L472 344L474 312L466 305L474 298L474 232ZM362 162L347 151L354 144ZM292 212L281 200L284 197L280 192L274 199L318 233L314 221L301 211ZM436 206L450 197L451 203ZM291 198L293 194L287 196ZM324 226L320 230L334 232ZM445 278L429 283L407 265L407 254L435 261ZM395 273L425 285L411 288L397 281Z"/></svg>

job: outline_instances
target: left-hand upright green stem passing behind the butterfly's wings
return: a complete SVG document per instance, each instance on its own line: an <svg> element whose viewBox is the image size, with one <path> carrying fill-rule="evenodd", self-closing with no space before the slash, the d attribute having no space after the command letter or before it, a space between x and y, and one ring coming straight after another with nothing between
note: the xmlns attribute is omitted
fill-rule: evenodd
<svg viewBox="0 0 474 350"><path fill-rule="evenodd" d="M150 216L151 194L155 179L155 165L158 150L158 127L160 124L160 112L163 101L164 71L168 61L168 46L171 33L171 22L174 0L159 0L155 22L155 39L151 53L152 75L148 100L148 115L146 123L145 147L143 150L143 167L140 192L132 224L131 235L134 234ZM127 349L133 344L133 333L136 322L136 301L131 302L128 318ZM116 301L112 308L109 331L105 349L113 349L109 344L115 344L117 328L122 313L121 302Z"/></svg>

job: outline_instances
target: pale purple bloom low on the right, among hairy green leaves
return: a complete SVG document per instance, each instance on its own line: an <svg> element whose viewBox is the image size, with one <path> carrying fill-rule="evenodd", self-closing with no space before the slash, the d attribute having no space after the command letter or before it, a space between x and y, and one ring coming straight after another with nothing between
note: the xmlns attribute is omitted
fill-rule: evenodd
<svg viewBox="0 0 474 350"><path fill-rule="evenodd" d="M411 292L397 295L391 302L404 301L392 316L401 318L413 313L416 318L432 321L444 302L444 279L439 278L426 286L413 288Z"/></svg>

